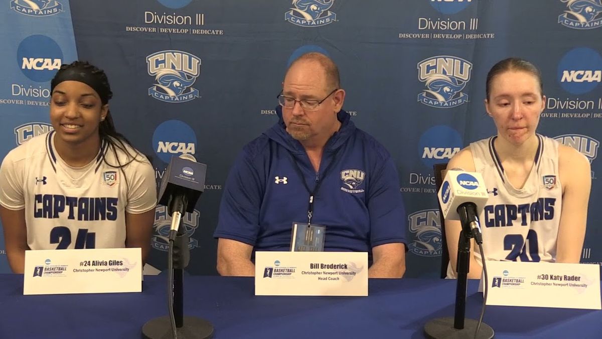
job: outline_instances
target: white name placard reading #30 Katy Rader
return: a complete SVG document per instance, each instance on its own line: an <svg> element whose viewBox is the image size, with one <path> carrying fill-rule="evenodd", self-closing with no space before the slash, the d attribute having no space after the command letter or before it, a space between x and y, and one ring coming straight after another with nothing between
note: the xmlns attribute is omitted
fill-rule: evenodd
<svg viewBox="0 0 602 339"><path fill-rule="evenodd" d="M487 261L487 305L601 309L600 266Z"/></svg>

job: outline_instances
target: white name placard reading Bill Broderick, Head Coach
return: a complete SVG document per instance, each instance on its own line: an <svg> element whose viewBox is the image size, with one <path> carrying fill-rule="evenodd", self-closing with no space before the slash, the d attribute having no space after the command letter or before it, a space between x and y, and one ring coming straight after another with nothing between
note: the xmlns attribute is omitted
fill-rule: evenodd
<svg viewBox="0 0 602 339"><path fill-rule="evenodd" d="M367 252L256 252L256 296L368 296Z"/></svg>

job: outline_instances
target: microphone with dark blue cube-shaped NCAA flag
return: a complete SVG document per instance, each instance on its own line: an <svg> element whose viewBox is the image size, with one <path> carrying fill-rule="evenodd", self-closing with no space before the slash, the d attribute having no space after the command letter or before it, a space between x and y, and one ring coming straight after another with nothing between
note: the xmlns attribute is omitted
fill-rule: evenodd
<svg viewBox="0 0 602 339"><path fill-rule="evenodd" d="M194 156L172 157L159 188L158 203L167 206L172 216L169 238L175 239L182 214L193 212L196 201L205 188L207 165L196 162Z"/></svg>

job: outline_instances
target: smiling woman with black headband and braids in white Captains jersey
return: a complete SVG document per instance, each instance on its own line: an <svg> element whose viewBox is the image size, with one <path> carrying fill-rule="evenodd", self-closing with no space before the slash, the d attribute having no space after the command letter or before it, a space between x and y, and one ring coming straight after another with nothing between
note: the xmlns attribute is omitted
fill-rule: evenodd
<svg viewBox="0 0 602 339"><path fill-rule="evenodd" d="M0 168L8 263L26 250L140 247L151 243L157 191L146 157L115 130L104 71L61 66L51 81L53 131L14 148Z"/></svg>

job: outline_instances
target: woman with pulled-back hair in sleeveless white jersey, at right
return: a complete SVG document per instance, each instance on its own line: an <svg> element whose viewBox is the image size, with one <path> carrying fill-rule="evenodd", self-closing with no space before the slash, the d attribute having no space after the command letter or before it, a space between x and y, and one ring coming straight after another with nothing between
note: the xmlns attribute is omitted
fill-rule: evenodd
<svg viewBox="0 0 602 339"><path fill-rule="evenodd" d="M487 75L485 109L497 135L457 153L448 169L483 174L489 200L480 213L486 259L579 262L585 238L591 173L574 148L535 133L545 108L541 74L525 60L505 59ZM446 221L455 277L459 221ZM469 278L482 258L471 244Z"/></svg>

